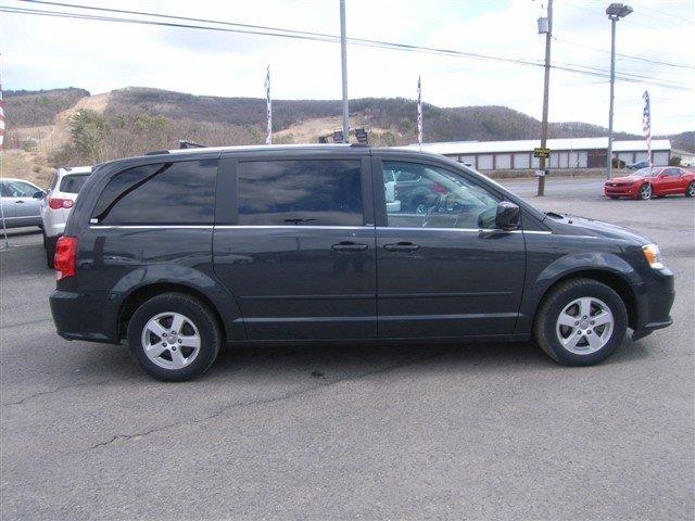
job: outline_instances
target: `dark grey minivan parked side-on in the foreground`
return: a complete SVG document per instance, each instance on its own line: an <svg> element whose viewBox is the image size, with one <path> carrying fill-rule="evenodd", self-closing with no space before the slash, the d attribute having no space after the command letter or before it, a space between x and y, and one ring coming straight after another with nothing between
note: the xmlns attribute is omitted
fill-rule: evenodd
<svg viewBox="0 0 695 521"><path fill-rule="evenodd" d="M389 209L384 171L438 196ZM198 377L220 346L249 341L534 338L585 366L628 328L640 339L669 326L674 298L658 246L633 231L542 213L443 156L348 144L102 164L55 269L59 334L127 340L163 380Z"/></svg>

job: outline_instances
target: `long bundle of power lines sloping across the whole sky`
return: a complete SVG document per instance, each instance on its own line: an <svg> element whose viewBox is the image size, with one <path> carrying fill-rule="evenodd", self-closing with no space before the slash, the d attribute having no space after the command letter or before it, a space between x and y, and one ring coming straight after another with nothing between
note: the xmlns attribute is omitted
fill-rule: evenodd
<svg viewBox="0 0 695 521"><path fill-rule="evenodd" d="M39 1L39 0L23 0L23 1L30 2L30 3L45 3L45 4L51 4L51 5L67 7L71 9L89 9L89 10L106 11L106 12L117 11L123 14L137 14L140 16L156 16L156 17L166 17L169 20L181 20L181 21L186 21L186 20L200 21L204 23L226 25L228 27L212 27L208 25L192 25L192 24L141 20L141 18L140 20L123 18L123 17L115 17L115 16L70 13L64 11L49 11L49 10L15 8L15 7L8 8L4 5L0 7L0 11L14 13L14 14L29 14L29 15L77 18L77 20L100 21L100 22L128 23L128 24L138 24L138 25L155 25L155 26L165 26L165 27L174 27L174 28L189 28L189 29L214 30L214 31L220 31L220 33L249 34L249 35L256 35L256 36L270 36L270 37L300 39L300 40L314 40L314 41L325 41L325 42L340 41L339 37L329 35L329 34L282 29L279 27L256 26L251 24L238 24L232 22L222 22L222 21L205 20L205 18L186 18L184 16L161 15L156 13L144 13L144 12L137 12L137 11L113 10L109 8L84 7L84 5L77 5L77 4L61 3L61 2L46 2L46 1ZM231 26L236 26L240 28L230 28ZM381 40L369 40L369 39L363 39L363 38L349 38L348 41L352 45L362 46L362 47L392 49L392 50L401 50L401 51L409 51L409 52L424 52L429 54L469 58L469 59L476 59L476 60L489 60L489 61L514 63L519 65L536 66L536 67L543 66L542 64L533 60L523 60L523 59L520 60L520 59L496 56L496 55L489 55L489 54L475 53L475 52L456 51L452 49L439 49L439 48L421 47L421 46L414 46L414 45L407 45L407 43L397 43L397 42L381 41ZM571 72L576 74L583 74L583 75L596 76L596 77L607 77L607 72L603 69L586 71L586 69L576 68L576 66L566 66L560 64L554 64L551 66L559 71L566 71L566 72ZM621 75L621 76L617 76L617 79L620 79L622 81L655 85L655 86L670 88L670 89L690 90L690 86L666 84L664 82L664 80L660 80L659 78L644 77L644 80L643 80L643 79L637 79L637 78L632 78L632 77Z"/></svg>

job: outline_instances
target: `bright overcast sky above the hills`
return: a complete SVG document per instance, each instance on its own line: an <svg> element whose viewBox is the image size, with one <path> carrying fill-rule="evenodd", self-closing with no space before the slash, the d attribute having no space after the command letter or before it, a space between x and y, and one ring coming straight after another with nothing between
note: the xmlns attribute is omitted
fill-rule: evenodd
<svg viewBox="0 0 695 521"><path fill-rule="evenodd" d="M340 30L338 0L67 3L334 35ZM555 1L553 63L609 69L610 22L604 14L608 3ZM688 90L617 81L616 129L641 134L645 88L652 97L655 134L695 129L695 1L629 3L634 13L618 22L618 52L687 67L618 56L617 74L658 78L688 86ZM2 4L68 11L17 0L3 0ZM544 37L538 35L535 21L544 13L546 0L346 0L346 4L349 37L539 62L544 56ZM24 14L0 16L5 89L73 86L98 93L142 86L195 94L263 97L265 67L270 64L274 98L341 96L337 43ZM417 76L421 75L422 98L429 103L506 105L541 117L541 67L349 46L348 68L351 98L414 99ZM607 78L554 69L551 120L607 126L608 86Z"/></svg>

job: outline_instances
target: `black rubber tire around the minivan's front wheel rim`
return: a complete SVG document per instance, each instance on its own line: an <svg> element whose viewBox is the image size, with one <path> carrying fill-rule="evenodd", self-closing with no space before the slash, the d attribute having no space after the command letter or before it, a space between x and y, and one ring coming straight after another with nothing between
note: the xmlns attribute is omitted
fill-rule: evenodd
<svg viewBox="0 0 695 521"><path fill-rule="evenodd" d="M612 314L612 332L598 351L578 354L560 343L558 317L572 301L581 297L598 298ZM591 318L591 317L590 317ZM543 298L535 316L533 333L541 348L563 366L592 366L608 358L622 342L628 328L626 305L611 288L593 279L570 279L553 288Z"/></svg>

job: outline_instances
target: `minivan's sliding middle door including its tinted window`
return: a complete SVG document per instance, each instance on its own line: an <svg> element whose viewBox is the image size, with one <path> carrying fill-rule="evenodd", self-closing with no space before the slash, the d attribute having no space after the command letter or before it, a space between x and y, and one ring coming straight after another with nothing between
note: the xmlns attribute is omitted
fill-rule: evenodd
<svg viewBox="0 0 695 521"><path fill-rule="evenodd" d="M214 269L249 340L376 338L368 150L224 158Z"/></svg>

